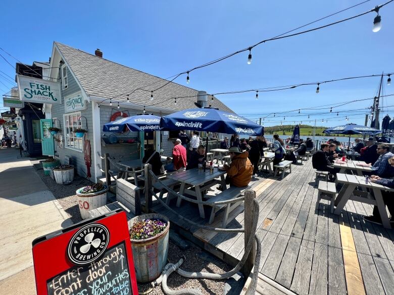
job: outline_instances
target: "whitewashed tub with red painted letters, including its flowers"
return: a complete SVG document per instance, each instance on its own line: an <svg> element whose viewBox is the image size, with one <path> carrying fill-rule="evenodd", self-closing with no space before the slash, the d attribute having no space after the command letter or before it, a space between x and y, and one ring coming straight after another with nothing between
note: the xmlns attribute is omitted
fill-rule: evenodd
<svg viewBox="0 0 394 295"><path fill-rule="evenodd" d="M107 204L109 187L103 184L93 184L77 190L77 202L82 219L89 218L89 211Z"/></svg>

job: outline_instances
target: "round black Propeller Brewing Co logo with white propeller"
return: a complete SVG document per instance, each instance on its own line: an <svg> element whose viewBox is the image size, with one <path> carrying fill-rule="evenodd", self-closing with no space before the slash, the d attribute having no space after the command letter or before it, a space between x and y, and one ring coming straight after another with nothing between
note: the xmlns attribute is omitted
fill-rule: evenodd
<svg viewBox="0 0 394 295"><path fill-rule="evenodd" d="M72 236L67 256L77 265L85 265L104 254L110 241L110 232L100 223L91 223L81 227Z"/></svg>

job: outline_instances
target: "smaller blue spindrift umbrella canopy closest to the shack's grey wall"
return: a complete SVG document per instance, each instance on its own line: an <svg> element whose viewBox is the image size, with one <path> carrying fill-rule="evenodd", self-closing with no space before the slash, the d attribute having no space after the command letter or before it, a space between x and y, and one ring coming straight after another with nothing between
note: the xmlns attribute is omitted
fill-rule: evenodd
<svg viewBox="0 0 394 295"><path fill-rule="evenodd" d="M127 130L134 132L152 132L160 130L160 117L152 114L139 114L130 117L124 117L104 124L104 132L120 133Z"/></svg>

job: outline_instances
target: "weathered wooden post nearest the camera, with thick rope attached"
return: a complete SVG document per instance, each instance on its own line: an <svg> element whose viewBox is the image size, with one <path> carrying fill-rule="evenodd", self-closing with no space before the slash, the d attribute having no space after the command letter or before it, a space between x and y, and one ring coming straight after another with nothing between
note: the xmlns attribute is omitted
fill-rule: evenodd
<svg viewBox="0 0 394 295"><path fill-rule="evenodd" d="M252 232L253 216L255 214L255 204L254 204L255 198L256 198L255 191L253 190L245 191L245 209L243 211L244 226L245 226L245 250L248 246L248 241L251 234L256 233L256 232ZM257 212L257 214L259 214L259 212ZM244 277L249 277L253 265L255 264L255 259L256 259L256 241L254 240L251 252L249 253L248 258L241 269L241 272L243 273Z"/></svg>

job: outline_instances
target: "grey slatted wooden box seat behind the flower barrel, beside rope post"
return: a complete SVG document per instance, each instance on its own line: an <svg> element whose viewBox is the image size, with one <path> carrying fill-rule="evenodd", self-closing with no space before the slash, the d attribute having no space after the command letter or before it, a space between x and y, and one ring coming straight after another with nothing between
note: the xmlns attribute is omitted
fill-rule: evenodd
<svg viewBox="0 0 394 295"><path fill-rule="evenodd" d="M123 180L116 180L116 200L127 207L134 215L141 214L140 189Z"/></svg>

